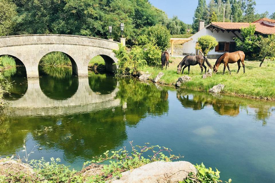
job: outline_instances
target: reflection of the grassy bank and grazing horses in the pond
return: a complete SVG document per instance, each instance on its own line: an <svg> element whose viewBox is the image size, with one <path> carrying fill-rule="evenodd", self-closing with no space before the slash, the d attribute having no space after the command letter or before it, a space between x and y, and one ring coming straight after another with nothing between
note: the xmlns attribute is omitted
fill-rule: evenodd
<svg viewBox="0 0 275 183"><path fill-rule="evenodd" d="M248 106L254 109L254 117L256 120L262 121L263 125L266 124L266 119L270 117L270 108L273 106L272 103L268 102L264 103L231 96L213 95L205 92L190 92L184 89L177 90L177 98L185 108L202 110L205 106L211 105L217 114L227 116L237 116L241 106Z"/></svg>

